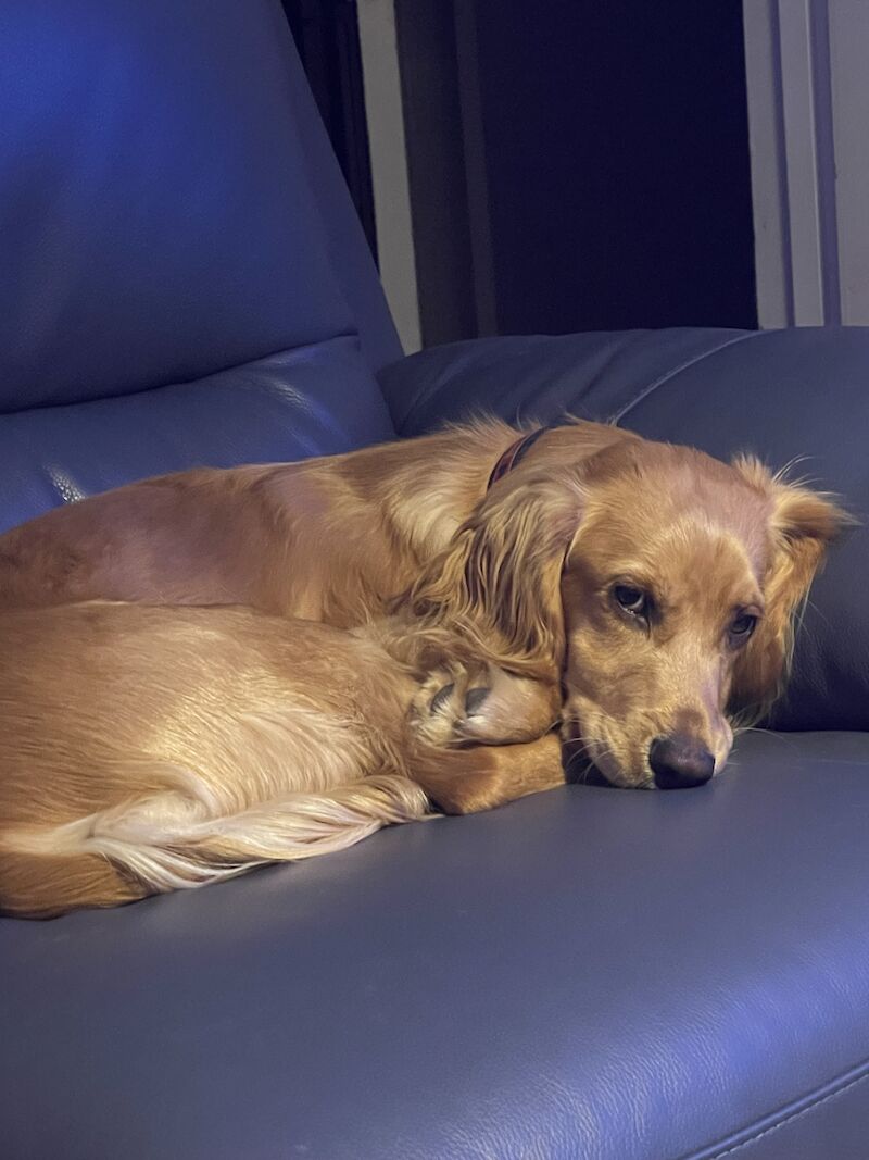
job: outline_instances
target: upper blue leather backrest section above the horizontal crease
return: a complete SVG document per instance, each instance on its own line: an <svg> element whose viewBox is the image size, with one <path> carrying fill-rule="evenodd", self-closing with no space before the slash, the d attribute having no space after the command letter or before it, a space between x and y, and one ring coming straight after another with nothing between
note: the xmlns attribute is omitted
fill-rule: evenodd
<svg viewBox="0 0 869 1160"><path fill-rule="evenodd" d="M28 0L0 43L0 409L358 329L277 0Z"/></svg>

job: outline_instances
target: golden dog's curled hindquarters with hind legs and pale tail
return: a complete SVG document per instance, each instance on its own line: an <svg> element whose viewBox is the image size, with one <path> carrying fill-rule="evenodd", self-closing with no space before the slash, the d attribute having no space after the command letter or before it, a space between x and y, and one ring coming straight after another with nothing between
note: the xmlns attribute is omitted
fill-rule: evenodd
<svg viewBox="0 0 869 1160"><path fill-rule="evenodd" d="M554 734L444 747L484 669L437 629L89 602L0 614L0 913L200 886L564 782Z"/></svg>

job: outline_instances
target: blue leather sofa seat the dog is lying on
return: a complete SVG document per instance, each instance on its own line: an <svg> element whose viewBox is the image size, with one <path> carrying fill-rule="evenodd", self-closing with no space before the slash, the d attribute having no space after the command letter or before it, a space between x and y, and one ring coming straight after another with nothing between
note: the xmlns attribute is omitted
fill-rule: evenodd
<svg viewBox="0 0 869 1160"><path fill-rule="evenodd" d="M868 826L869 737L750 733L689 793L2 920L2 1154L864 1160Z"/></svg>

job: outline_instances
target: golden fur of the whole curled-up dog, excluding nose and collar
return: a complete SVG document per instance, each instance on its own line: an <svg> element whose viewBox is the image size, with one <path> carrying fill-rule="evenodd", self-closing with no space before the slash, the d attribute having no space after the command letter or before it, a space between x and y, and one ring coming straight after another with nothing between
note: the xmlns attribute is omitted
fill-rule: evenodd
<svg viewBox="0 0 869 1160"><path fill-rule="evenodd" d="M510 800L563 780L562 712L616 784L651 784L670 734L721 768L842 513L754 459L579 422L487 492L517 436L167 476L0 536L0 906L109 905Z"/></svg>

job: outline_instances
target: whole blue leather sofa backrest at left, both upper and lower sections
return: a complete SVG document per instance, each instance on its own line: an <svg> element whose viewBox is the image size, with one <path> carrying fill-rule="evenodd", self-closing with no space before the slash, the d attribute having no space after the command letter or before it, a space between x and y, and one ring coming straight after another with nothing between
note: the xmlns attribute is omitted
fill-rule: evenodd
<svg viewBox="0 0 869 1160"><path fill-rule="evenodd" d="M0 44L0 525L390 437L401 350L279 0L22 0Z"/></svg>

